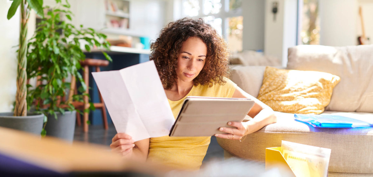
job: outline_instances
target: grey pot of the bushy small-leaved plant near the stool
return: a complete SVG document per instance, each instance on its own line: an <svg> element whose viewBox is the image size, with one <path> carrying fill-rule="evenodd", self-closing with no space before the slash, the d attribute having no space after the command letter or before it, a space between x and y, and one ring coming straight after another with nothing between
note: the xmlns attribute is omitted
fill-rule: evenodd
<svg viewBox="0 0 373 177"><path fill-rule="evenodd" d="M72 142L74 139L76 111L66 111L65 114L56 112L57 119L53 115L48 115L45 127L47 136L53 136Z"/></svg>

